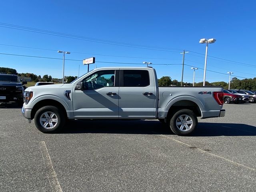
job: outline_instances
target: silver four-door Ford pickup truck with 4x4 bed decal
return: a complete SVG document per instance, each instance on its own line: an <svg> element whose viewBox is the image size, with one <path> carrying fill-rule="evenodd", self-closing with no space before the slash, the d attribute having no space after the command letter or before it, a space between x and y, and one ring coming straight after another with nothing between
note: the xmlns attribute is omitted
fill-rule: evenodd
<svg viewBox="0 0 256 192"><path fill-rule="evenodd" d="M150 67L97 68L70 84L29 87L22 114L51 133L76 119L158 119L178 135L191 133L197 117L225 116L222 87L158 87Z"/></svg>

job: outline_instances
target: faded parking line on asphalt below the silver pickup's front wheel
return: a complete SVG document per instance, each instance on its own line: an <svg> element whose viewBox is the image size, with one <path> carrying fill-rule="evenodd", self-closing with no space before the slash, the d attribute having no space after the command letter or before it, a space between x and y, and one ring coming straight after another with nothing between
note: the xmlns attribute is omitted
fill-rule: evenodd
<svg viewBox="0 0 256 192"><path fill-rule="evenodd" d="M50 182L50 186L52 188L53 192L62 192L62 189L60 187L60 183L58 181L58 178L56 176L55 170L52 166L52 161L50 158L50 155L48 153L48 150L46 148L46 144L44 141L39 142L40 149L42 152L42 156L44 159L44 166L46 168L47 174L48 174L48 180Z"/></svg>

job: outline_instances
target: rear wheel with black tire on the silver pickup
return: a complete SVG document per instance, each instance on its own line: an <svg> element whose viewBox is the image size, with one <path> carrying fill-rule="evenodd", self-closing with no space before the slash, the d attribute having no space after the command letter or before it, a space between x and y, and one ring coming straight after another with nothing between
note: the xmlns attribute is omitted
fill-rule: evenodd
<svg viewBox="0 0 256 192"><path fill-rule="evenodd" d="M182 122L180 118L183 119L184 122ZM174 132L177 135L187 135L195 130L198 124L198 120L196 114L193 111L188 109L182 109L178 110L170 118L169 123L172 132Z"/></svg>

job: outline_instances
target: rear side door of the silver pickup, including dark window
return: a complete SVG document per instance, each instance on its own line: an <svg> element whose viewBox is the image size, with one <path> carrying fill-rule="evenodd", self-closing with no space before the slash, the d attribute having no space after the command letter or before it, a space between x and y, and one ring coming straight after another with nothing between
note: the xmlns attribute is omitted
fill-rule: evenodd
<svg viewBox="0 0 256 192"><path fill-rule="evenodd" d="M152 70L120 70L119 118L156 117L156 85Z"/></svg>

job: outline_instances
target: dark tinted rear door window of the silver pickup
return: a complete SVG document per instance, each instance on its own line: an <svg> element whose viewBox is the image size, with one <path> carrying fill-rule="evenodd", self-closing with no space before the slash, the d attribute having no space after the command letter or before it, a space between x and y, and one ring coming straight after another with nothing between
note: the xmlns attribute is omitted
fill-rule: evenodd
<svg viewBox="0 0 256 192"><path fill-rule="evenodd" d="M146 87L150 85L147 70L124 70L124 87Z"/></svg>

